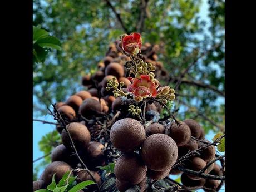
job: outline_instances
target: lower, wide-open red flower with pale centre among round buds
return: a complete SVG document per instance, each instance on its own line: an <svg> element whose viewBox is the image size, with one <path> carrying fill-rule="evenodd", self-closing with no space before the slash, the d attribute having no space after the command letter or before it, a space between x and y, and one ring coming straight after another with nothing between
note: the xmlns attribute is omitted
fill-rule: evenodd
<svg viewBox="0 0 256 192"><path fill-rule="evenodd" d="M157 95L157 90L155 88L155 83L150 80L148 75L141 75L140 80L138 78L132 78L132 84L129 85L128 91L134 93L134 96L137 98L139 97L155 97Z"/></svg>

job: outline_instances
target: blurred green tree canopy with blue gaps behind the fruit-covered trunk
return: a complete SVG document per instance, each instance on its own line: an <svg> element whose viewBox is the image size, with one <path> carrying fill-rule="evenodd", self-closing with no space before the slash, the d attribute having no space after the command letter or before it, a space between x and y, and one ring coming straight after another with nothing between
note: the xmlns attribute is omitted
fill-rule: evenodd
<svg viewBox="0 0 256 192"><path fill-rule="evenodd" d="M200 0L34 0L33 25L61 42L45 62L33 63L34 115L81 89L107 47L122 33L140 32L158 44L158 56L176 87L176 116L194 118L206 132L224 132L224 1L209 0L207 23ZM39 112L39 113L38 113Z"/></svg>

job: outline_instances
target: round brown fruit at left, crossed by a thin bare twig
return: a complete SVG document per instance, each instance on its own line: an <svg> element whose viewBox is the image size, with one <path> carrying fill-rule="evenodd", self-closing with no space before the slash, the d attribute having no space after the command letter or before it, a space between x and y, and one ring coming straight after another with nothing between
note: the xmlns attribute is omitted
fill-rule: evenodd
<svg viewBox="0 0 256 192"><path fill-rule="evenodd" d="M67 129L70 132L70 135L76 147L84 149L88 146L91 140L91 135L85 125L82 125L78 122L72 122L71 124L67 125ZM68 149L71 149L70 139L66 130L62 131L61 139L63 145L65 145L65 147L67 147Z"/></svg>

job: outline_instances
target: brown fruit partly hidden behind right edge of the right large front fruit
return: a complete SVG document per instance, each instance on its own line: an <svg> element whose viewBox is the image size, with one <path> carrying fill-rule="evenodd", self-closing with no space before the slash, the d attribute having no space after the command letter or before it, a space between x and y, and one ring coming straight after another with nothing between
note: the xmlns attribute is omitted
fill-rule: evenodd
<svg viewBox="0 0 256 192"><path fill-rule="evenodd" d="M173 138L178 147L186 145L191 136L189 126L182 121L179 121L179 124L176 124L176 122L173 121L166 127L165 134Z"/></svg>

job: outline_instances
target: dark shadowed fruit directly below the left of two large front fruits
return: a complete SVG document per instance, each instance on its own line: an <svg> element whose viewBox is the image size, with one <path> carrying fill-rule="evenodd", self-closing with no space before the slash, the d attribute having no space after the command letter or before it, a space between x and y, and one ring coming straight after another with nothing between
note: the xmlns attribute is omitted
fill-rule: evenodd
<svg viewBox="0 0 256 192"><path fill-rule="evenodd" d="M138 154L124 154L116 161L115 175L121 182L139 184L145 178L146 173L147 166L143 164Z"/></svg>

